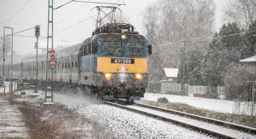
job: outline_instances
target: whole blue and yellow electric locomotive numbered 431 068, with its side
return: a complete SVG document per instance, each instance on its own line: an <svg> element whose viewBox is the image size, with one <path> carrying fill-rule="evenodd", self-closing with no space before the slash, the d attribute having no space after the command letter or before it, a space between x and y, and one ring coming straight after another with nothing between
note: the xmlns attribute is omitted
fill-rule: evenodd
<svg viewBox="0 0 256 139"><path fill-rule="evenodd" d="M103 99L139 100L148 86L151 51L151 44L131 24L108 23L81 45L79 83L91 86Z"/></svg>

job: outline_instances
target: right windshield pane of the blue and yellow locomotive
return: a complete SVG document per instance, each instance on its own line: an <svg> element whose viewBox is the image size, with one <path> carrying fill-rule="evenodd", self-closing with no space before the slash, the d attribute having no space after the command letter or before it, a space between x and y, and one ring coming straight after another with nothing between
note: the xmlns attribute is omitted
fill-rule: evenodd
<svg viewBox="0 0 256 139"><path fill-rule="evenodd" d="M142 42L125 42L124 53L128 55L142 55L144 45Z"/></svg>

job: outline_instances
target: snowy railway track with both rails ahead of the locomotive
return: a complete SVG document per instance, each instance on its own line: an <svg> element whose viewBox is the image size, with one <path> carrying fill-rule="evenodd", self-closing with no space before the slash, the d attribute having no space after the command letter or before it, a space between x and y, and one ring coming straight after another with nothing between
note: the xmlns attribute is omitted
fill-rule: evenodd
<svg viewBox="0 0 256 139"><path fill-rule="evenodd" d="M121 101L122 102L122 101ZM137 112L159 120L172 122L174 124L190 128L205 134L225 139L252 139L256 138L256 129L238 124L232 124L203 116L197 116L185 112L174 111L161 107L150 106L141 103L121 105L118 103L104 102L107 105L119 107L132 112Z"/></svg>

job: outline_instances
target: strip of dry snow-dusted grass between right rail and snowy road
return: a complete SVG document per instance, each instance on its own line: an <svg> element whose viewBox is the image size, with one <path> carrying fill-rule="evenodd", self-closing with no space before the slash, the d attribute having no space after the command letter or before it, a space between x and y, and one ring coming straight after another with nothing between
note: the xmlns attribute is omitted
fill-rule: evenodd
<svg viewBox="0 0 256 139"><path fill-rule="evenodd" d="M179 102L158 103L155 101L142 101L142 103L256 128L256 116L209 111Z"/></svg>

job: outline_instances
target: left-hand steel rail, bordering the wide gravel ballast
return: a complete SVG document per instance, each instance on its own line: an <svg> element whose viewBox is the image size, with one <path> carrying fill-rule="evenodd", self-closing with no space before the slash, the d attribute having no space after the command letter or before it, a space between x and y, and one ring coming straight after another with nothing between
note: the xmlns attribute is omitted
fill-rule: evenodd
<svg viewBox="0 0 256 139"><path fill-rule="evenodd" d="M182 122L182 121L170 119L170 118L167 118L167 117L164 117L164 116L159 116L159 115L156 115L156 114L153 114L153 113L150 113L150 112L137 110L137 109L134 109L134 108L131 108L131 107L126 107L124 105L120 105L120 104L116 104L116 103L112 103L112 102L107 102L107 101L105 101L104 103L107 104L107 105L110 105L110 106L115 106L115 107L123 108L125 110L129 110L129 111L132 111L132 112L137 112L137 113L140 113L140 114L143 114L143 115L146 115L146 116L154 117L154 118L157 118L159 120L164 120L164 121L167 121L167 122L171 122L173 124L177 124L177 125L183 126L185 128L191 128L193 130L196 130L196 131L199 131L199 132L202 132L202 133L205 133L205 134L209 134L209 135L212 135L214 137L223 138L223 139L236 139L235 137L231 137L227 134L219 133L219 132L212 131L212 130L209 130L209 129L205 129L205 128L202 128L202 127L199 127L199 126L188 124L188 123L185 123L185 122Z"/></svg>

